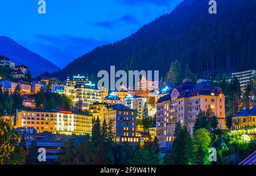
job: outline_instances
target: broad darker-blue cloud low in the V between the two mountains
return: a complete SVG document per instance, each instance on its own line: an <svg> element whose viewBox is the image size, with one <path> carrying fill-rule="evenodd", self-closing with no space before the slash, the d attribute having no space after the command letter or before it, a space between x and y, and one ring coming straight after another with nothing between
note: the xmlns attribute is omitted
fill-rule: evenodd
<svg viewBox="0 0 256 176"><path fill-rule="evenodd" d="M107 43L105 40L76 36L36 35L36 39L38 47L34 51L61 68L75 58Z"/></svg>

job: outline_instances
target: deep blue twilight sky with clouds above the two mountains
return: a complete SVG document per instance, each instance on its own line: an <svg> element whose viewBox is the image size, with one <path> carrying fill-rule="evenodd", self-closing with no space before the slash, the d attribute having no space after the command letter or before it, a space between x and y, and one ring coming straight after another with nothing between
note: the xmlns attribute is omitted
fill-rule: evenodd
<svg viewBox="0 0 256 176"><path fill-rule="evenodd" d="M0 0L0 36L63 68L98 45L136 32L182 0Z"/></svg>

